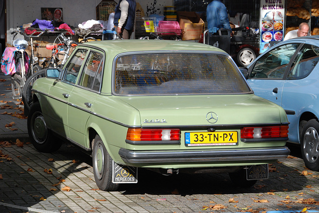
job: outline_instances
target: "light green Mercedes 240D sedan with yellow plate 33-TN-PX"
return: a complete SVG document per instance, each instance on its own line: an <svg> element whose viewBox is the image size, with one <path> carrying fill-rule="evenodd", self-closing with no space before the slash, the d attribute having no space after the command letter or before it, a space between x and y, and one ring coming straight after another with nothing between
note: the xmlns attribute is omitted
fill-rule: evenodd
<svg viewBox="0 0 319 213"><path fill-rule="evenodd" d="M63 139L93 159L101 190L164 175L227 172L250 187L286 158L285 110L254 95L228 54L195 42L107 40L78 45L32 87L28 132L41 152Z"/></svg>

